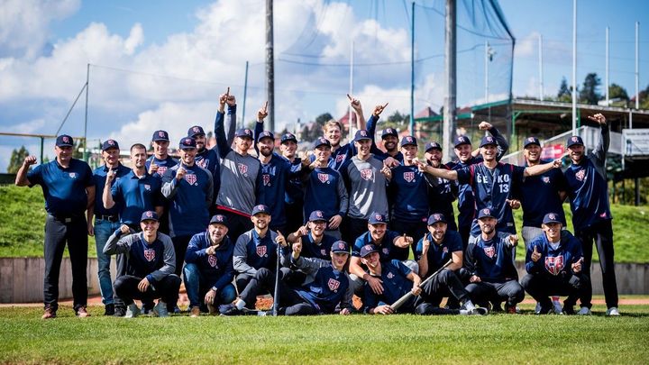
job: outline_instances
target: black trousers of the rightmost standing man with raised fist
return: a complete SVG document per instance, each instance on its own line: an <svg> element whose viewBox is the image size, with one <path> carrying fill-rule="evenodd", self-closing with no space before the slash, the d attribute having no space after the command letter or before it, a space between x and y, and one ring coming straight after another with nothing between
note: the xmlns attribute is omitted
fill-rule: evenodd
<svg viewBox="0 0 649 365"><path fill-rule="evenodd" d="M604 285L604 297L606 298L607 307L617 306L617 280L615 275L615 261L613 259L613 225L611 220L598 222L590 227L575 234L581 242L581 249L584 253L584 263L581 265L583 273L590 281L590 263L592 262L593 242L597 247L599 254L599 267L602 271L602 284ZM590 308L590 299L592 299L592 286L586 288L584 297L585 303L581 306Z"/></svg>

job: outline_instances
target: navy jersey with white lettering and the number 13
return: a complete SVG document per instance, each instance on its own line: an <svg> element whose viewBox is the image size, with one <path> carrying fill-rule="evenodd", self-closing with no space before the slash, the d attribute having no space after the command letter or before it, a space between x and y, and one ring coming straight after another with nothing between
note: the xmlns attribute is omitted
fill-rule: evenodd
<svg viewBox="0 0 649 365"><path fill-rule="evenodd" d="M507 204L507 199L513 194L512 184L523 181L524 172L525 168L508 163L498 162L494 169L488 169L484 163L478 163L458 170L458 181L471 185L476 211L491 209L491 213L498 219L498 231L516 233L514 214L511 206ZM477 219L471 226L471 234L480 234Z"/></svg>

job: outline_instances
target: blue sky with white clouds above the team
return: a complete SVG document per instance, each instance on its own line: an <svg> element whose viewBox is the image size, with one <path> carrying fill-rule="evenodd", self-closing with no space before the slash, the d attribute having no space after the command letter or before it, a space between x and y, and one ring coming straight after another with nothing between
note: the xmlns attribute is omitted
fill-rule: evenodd
<svg viewBox="0 0 649 365"><path fill-rule="evenodd" d="M443 9L441 0L424 3ZM572 2L500 0L499 4L516 37L514 95L538 94L538 34L544 37L544 94L556 94L562 77L571 82ZM217 97L226 86L239 97L241 115L245 60L251 61L246 107L250 120L265 100L264 6L263 0L5 1L0 8L0 132L56 132L85 83L87 63L96 65L91 68L88 110L92 144L108 137L125 146L146 142L158 128L178 140L191 124L210 127ZM322 18L313 44L329 64L339 63L320 71L309 69L306 78L298 75L300 66L279 62L278 125L290 127L298 118L305 122L325 111L334 116L344 113L349 70L341 65L349 62L350 34L356 40L355 62L386 59L397 65L355 69L354 95L366 109L388 101L386 113L408 113L409 31L404 25L408 19L392 16L407 7L409 2L398 0L276 0L276 58L287 59L282 51L292 50L300 34L309 34L305 24ZM639 21L640 87L646 87L649 3L580 0L578 9L578 84L588 72L597 72L604 81L608 25L610 80L626 87L629 95L635 93L634 37ZM439 17L427 20L434 23L431 29L439 29L438 21ZM440 37L430 35L437 44L419 48L418 56L441 52ZM467 104L480 102L483 95L479 58L477 65L458 65L462 76L476 86L471 93L466 87L462 90ZM434 72L417 74L416 110L442 105L440 65L442 59L434 59L429 64ZM478 70L476 76L467 76L473 68ZM490 100L498 98L498 74L491 80ZM80 135L83 118L82 97L61 132ZM0 171L5 170L11 150L21 144L38 154L37 140L0 137ZM49 151L51 141L46 143L46 154Z"/></svg>

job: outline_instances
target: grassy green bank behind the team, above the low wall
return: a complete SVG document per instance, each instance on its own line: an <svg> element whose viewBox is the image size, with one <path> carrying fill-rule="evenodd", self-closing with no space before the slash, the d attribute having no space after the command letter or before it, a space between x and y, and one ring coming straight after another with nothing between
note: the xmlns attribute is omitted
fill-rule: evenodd
<svg viewBox="0 0 649 365"><path fill-rule="evenodd" d="M0 257L41 257L45 222L41 187L0 186L0 206L3 206L0 210ZM563 205L563 210L568 214L568 228L572 231L570 206ZM649 246L646 245L649 208L612 205L611 210L617 262L649 262ZM521 210L516 210L514 216L517 230L521 232ZM525 260L524 255L523 250L517 250L519 260ZM89 237L88 256L96 256L93 237Z"/></svg>

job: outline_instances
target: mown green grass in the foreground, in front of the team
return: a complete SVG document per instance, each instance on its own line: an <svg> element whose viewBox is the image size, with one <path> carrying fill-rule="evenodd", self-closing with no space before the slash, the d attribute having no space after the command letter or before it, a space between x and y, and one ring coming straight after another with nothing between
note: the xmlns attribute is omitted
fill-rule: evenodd
<svg viewBox="0 0 649 365"><path fill-rule="evenodd" d="M78 319L0 308L1 363L645 363L649 306L623 315Z"/></svg>

